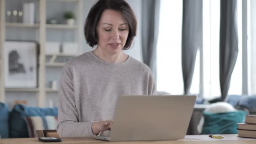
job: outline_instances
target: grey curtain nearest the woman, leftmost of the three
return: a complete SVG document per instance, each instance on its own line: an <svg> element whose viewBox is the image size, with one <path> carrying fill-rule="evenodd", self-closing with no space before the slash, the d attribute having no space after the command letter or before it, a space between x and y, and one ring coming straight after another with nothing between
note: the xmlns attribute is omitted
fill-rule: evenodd
<svg viewBox="0 0 256 144"><path fill-rule="evenodd" d="M156 47L159 27L160 0L142 0L142 56L156 81Z"/></svg>

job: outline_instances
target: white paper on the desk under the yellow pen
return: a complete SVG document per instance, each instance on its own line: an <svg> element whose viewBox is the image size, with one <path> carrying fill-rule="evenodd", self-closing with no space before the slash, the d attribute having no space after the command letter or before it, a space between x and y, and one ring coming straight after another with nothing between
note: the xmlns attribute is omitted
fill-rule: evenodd
<svg viewBox="0 0 256 144"><path fill-rule="evenodd" d="M221 135L219 135L221 136ZM242 138L238 136L223 136L223 139L215 139L215 138L210 138L208 135L186 135L185 139L194 139L195 141L255 141L256 139L253 138Z"/></svg>

